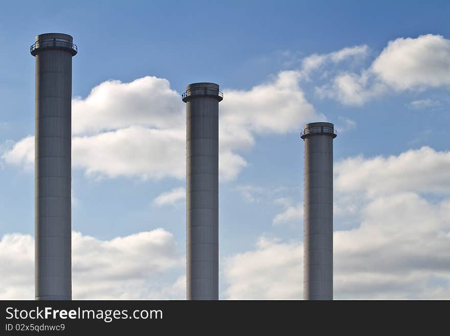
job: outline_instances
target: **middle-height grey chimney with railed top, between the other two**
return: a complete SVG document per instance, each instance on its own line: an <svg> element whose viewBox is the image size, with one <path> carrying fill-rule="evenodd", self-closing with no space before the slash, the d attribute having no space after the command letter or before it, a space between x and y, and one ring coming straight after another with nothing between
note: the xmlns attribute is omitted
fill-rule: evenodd
<svg viewBox="0 0 450 336"><path fill-rule="evenodd" d="M186 87L186 278L188 300L219 297L219 85Z"/></svg>

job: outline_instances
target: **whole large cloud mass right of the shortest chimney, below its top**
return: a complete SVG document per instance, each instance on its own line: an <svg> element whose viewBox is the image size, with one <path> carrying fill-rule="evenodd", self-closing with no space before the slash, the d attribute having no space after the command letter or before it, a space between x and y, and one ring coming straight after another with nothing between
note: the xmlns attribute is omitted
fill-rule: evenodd
<svg viewBox="0 0 450 336"><path fill-rule="evenodd" d="M356 221L334 233L336 298L450 298L449 168L429 147L336 164L335 207Z"/></svg>

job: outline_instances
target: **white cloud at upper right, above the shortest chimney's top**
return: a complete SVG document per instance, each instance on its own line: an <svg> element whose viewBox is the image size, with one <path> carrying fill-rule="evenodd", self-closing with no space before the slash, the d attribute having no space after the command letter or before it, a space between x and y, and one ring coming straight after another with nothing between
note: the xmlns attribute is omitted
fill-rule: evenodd
<svg viewBox="0 0 450 336"><path fill-rule="evenodd" d="M441 35L398 38L360 72L341 71L317 86L322 97L362 105L388 92L450 86L450 40Z"/></svg>

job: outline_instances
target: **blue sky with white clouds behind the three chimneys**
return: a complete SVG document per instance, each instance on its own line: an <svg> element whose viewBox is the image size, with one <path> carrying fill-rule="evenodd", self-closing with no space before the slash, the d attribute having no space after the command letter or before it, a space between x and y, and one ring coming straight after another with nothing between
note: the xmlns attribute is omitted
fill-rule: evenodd
<svg viewBox="0 0 450 336"><path fill-rule="evenodd" d="M302 299L303 142L335 124L334 297L450 299L447 2L14 2L0 299L34 297L34 36L74 36L73 298L184 299L185 104L220 84L220 298ZM193 10L195 7L195 10Z"/></svg>

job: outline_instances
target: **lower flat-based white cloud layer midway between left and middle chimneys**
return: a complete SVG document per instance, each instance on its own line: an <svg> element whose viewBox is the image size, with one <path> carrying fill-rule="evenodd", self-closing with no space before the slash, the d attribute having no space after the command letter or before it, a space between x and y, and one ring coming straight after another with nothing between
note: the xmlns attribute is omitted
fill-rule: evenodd
<svg viewBox="0 0 450 336"><path fill-rule="evenodd" d="M160 179L186 175L186 138L177 129L131 126L99 135L75 137L73 166L92 176Z"/></svg>

